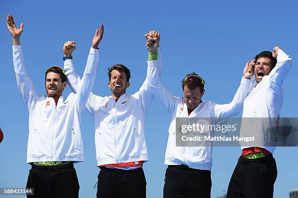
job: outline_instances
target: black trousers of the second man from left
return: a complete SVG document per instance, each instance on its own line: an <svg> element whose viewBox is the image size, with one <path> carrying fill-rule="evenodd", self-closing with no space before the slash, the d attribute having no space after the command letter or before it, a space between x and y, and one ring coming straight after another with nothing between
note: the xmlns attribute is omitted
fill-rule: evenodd
<svg viewBox="0 0 298 198"><path fill-rule="evenodd" d="M122 170L100 167L97 198L146 198L143 168Z"/></svg>

